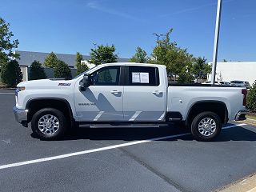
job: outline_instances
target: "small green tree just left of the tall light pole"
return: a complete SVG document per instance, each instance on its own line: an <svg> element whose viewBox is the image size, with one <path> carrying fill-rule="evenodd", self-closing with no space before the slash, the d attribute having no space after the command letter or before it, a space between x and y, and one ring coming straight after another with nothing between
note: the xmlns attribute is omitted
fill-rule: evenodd
<svg viewBox="0 0 256 192"><path fill-rule="evenodd" d="M197 78L206 78L206 75L211 72L211 66L206 62L205 57L195 58L191 69L192 74Z"/></svg>

